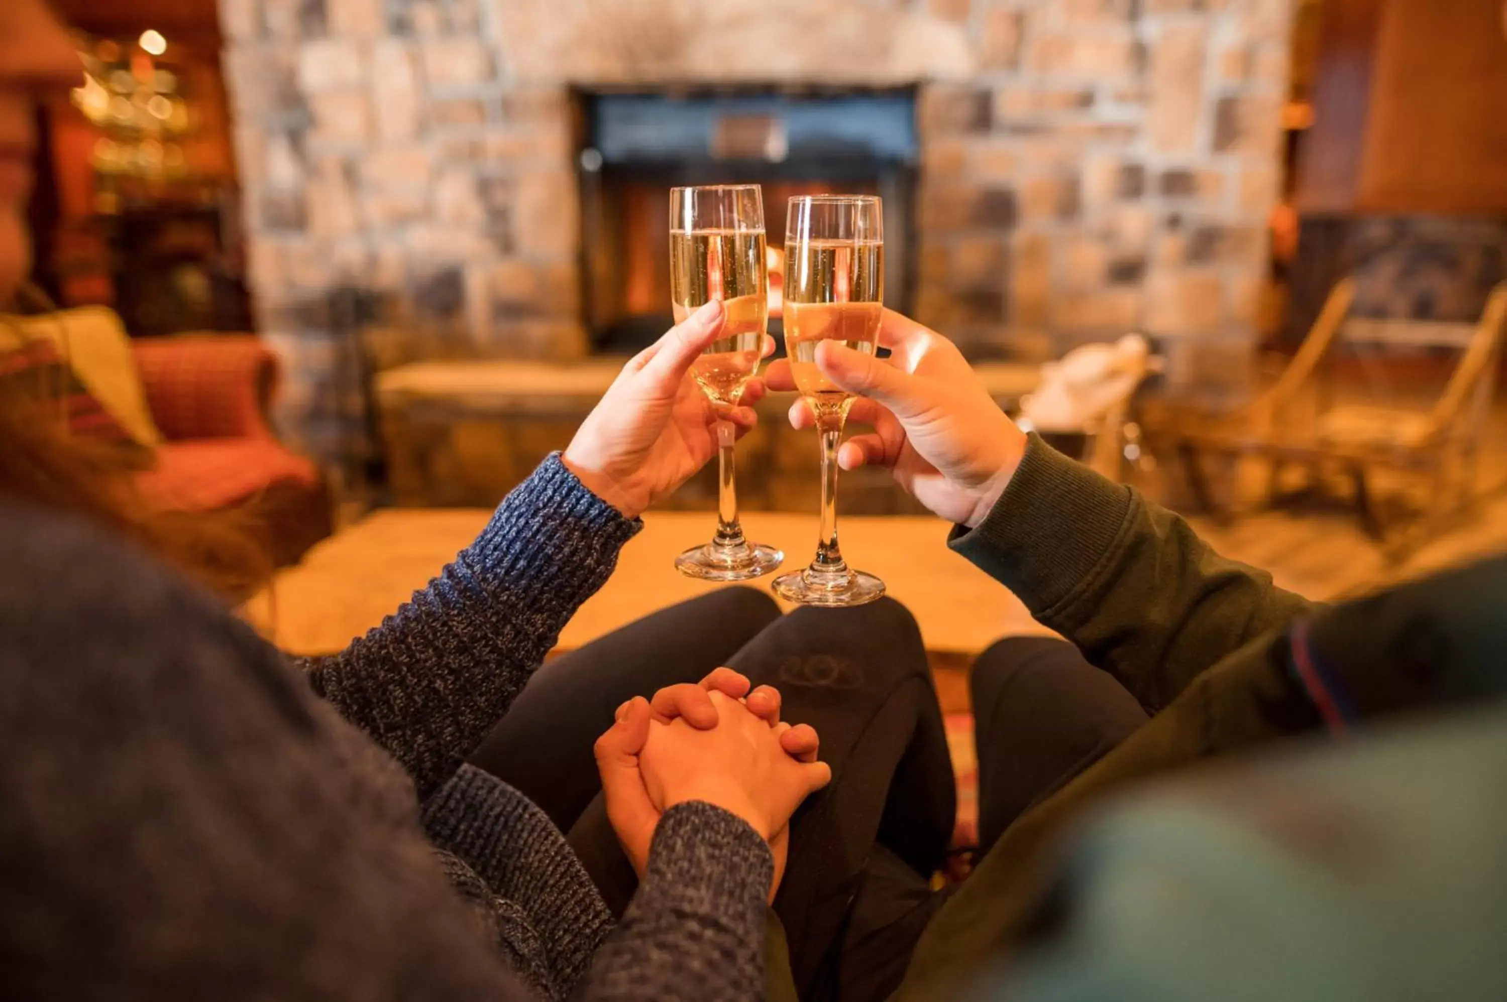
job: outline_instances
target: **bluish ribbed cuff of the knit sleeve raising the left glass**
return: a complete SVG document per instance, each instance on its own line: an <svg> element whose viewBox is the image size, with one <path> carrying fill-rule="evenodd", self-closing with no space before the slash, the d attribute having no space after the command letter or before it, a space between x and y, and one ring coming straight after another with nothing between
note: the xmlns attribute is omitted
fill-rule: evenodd
<svg viewBox="0 0 1507 1002"><path fill-rule="evenodd" d="M595 577L643 527L601 500L552 452L508 494L461 559L482 580L547 576L559 589L573 574ZM600 586L600 580L597 582Z"/></svg>

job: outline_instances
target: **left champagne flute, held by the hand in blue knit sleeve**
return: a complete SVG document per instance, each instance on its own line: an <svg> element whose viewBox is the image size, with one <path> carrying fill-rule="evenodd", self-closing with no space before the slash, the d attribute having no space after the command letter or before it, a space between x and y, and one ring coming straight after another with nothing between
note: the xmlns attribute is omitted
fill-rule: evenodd
<svg viewBox="0 0 1507 1002"><path fill-rule="evenodd" d="M764 196L757 184L671 188L669 285L675 322L708 300L722 300L722 338L696 359L690 374L716 407L735 407L764 357L769 327L769 273L764 265ZM717 422L717 535L686 550L675 568L708 582L741 582L769 574L785 554L749 542L738 524L731 422Z"/></svg>

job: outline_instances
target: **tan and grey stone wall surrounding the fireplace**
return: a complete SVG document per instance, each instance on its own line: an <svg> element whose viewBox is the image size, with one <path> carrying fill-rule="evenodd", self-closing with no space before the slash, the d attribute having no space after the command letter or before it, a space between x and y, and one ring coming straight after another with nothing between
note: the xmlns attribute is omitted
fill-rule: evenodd
<svg viewBox="0 0 1507 1002"><path fill-rule="evenodd" d="M571 359L571 83L919 83L916 312L977 357L1142 328L1243 371L1290 0L220 0L285 416L338 449L332 292L384 365Z"/></svg>

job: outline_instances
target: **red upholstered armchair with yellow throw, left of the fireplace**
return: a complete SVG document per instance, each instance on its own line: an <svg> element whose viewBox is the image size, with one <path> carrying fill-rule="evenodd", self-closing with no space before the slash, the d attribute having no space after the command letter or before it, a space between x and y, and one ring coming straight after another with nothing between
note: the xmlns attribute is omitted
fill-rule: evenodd
<svg viewBox="0 0 1507 1002"><path fill-rule="evenodd" d="M252 509L279 565L330 535L318 467L273 435L267 410L277 356L252 336L131 342L152 420L166 441L137 476L154 503L185 511Z"/></svg>

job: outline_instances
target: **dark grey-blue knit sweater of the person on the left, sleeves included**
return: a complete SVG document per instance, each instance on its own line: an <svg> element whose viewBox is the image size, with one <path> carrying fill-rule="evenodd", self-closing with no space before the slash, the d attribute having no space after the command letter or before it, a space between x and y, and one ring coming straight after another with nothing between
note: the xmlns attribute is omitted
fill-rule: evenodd
<svg viewBox="0 0 1507 1002"><path fill-rule="evenodd" d="M552 458L304 678L146 556L0 505L0 997L760 997L752 827L668 811L613 928L544 814L461 765L636 529Z"/></svg>

